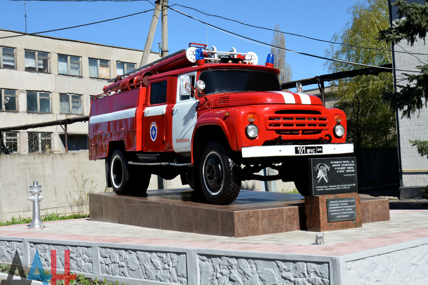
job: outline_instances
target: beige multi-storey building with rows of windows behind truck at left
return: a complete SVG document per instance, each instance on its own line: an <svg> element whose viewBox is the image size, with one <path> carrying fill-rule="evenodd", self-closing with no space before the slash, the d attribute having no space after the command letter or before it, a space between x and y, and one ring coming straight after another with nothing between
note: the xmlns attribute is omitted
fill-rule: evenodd
<svg viewBox="0 0 428 285"><path fill-rule="evenodd" d="M89 115L107 80L138 68L143 50L0 29L0 127ZM3 38L8 37L9 38ZM159 59L150 53L149 62ZM68 151L88 150L88 123L68 125ZM3 132L10 153L65 152L61 126Z"/></svg>

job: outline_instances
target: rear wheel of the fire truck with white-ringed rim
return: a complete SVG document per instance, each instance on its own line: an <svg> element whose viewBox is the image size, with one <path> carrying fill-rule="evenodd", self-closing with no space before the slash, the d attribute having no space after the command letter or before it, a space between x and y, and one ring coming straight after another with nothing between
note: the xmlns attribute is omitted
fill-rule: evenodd
<svg viewBox="0 0 428 285"><path fill-rule="evenodd" d="M110 158L110 182L113 191L118 195L128 195L131 182L131 172L125 153L121 149L114 150Z"/></svg>

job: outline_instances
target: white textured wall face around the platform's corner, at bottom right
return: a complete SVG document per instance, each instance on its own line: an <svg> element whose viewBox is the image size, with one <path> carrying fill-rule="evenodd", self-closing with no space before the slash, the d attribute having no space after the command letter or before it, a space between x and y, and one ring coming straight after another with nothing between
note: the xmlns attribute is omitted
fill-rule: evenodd
<svg viewBox="0 0 428 285"><path fill-rule="evenodd" d="M428 244L423 244L345 262L345 278L342 276L342 281L347 285L416 284L428 280L427 264Z"/></svg>

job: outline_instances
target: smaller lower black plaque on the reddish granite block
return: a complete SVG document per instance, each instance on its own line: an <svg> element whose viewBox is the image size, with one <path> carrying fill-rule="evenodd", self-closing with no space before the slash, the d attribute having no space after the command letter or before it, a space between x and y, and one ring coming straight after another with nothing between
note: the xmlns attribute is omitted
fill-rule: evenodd
<svg viewBox="0 0 428 285"><path fill-rule="evenodd" d="M328 222L355 219L357 219L357 210L355 209L355 197L327 199Z"/></svg>

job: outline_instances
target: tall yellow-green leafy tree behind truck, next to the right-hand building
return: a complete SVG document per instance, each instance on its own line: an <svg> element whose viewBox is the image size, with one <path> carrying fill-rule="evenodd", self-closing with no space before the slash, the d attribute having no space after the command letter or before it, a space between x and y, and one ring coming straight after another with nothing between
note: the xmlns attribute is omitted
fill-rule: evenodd
<svg viewBox="0 0 428 285"><path fill-rule="evenodd" d="M386 0L359 0L348 8L350 20L332 40L349 45L330 44L329 57L368 65L391 63L390 46L377 40L380 30L389 27ZM370 50L354 46L374 47ZM355 65L327 62L331 73L355 69ZM347 140L355 147L396 147L395 113L382 98L382 93L393 90L392 74L363 75L332 82L336 85L335 104L347 116Z"/></svg>

